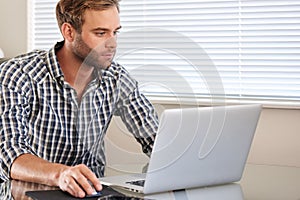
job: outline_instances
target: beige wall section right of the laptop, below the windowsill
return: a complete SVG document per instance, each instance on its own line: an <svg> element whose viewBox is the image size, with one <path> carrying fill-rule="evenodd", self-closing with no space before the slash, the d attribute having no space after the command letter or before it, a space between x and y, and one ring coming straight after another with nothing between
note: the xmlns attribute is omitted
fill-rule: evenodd
<svg viewBox="0 0 300 200"><path fill-rule="evenodd" d="M249 162L300 167L300 110L263 110Z"/></svg>

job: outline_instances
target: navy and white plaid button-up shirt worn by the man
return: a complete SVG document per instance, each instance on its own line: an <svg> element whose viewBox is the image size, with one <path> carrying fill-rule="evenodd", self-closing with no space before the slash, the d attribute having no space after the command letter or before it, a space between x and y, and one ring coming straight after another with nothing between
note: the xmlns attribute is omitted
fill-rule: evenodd
<svg viewBox="0 0 300 200"><path fill-rule="evenodd" d="M94 70L79 103L64 81L55 51L33 51L0 67L0 179L24 153L66 165L86 164L98 177L105 166L104 136L113 115L150 155L158 127L151 103L117 63Z"/></svg>

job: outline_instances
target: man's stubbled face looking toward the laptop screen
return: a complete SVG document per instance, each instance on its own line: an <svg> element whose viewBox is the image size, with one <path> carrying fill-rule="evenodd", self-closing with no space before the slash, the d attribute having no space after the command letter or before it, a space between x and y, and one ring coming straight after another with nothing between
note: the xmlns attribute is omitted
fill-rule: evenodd
<svg viewBox="0 0 300 200"><path fill-rule="evenodd" d="M76 33L73 42L74 55L87 65L106 69L116 53L116 34L120 28L116 7L103 11L87 10L82 32Z"/></svg>

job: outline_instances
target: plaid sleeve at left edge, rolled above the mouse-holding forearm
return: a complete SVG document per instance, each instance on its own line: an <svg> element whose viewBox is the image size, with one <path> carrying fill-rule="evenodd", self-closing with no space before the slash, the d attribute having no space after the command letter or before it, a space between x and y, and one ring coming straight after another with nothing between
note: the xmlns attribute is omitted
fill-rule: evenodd
<svg viewBox="0 0 300 200"><path fill-rule="evenodd" d="M11 68L10 66L9 68ZM18 66L16 66L18 67ZM12 77L12 74L0 72L0 179L10 178L13 161L24 153L32 153L28 148L27 119L29 105L25 98L26 88ZM19 72L13 73L18 75Z"/></svg>

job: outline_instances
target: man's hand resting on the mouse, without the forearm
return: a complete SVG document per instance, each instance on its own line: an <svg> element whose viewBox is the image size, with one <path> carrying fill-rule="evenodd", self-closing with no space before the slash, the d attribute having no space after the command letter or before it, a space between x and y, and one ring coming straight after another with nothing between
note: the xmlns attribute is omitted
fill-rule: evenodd
<svg viewBox="0 0 300 200"><path fill-rule="evenodd" d="M61 173L59 187L79 198L91 195L95 190L102 190L96 175L85 165L69 167Z"/></svg>

